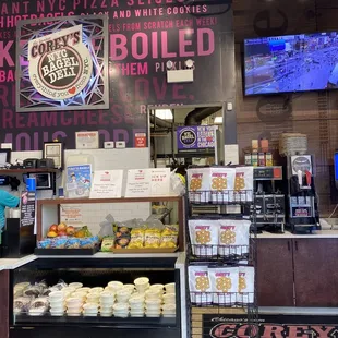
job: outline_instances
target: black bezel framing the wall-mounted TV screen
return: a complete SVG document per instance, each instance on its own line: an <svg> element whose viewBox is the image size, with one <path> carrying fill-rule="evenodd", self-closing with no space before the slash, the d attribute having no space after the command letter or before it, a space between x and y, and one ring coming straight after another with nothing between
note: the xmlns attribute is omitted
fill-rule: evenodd
<svg viewBox="0 0 338 338"><path fill-rule="evenodd" d="M336 92L338 90L337 88L325 88L325 89L309 89L309 90L290 90L290 92L274 92L274 93L257 93L257 94L246 94L245 92L245 40L251 40L251 39L264 39L264 38L270 38L270 37L278 37L278 36L290 36L290 35L311 35L311 34L321 34L321 33L337 33L338 35L338 29L337 31L325 31L325 32L312 32L312 33L294 33L294 34L285 34L285 35L270 35L270 36L259 36L259 37L249 37L243 39L242 46L242 90L243 90L243 97L257 97L257 96L278 96L278 95L293 95L293 94L304 94L304 93L323 93L323 92Z"/></svg>

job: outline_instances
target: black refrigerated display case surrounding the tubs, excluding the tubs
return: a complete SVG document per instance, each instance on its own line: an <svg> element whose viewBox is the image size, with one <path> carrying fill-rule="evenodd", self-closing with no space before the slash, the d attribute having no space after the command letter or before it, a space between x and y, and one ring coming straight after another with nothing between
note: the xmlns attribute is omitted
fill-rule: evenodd
<svg viewBox="0 0 338 338"><path fill-rule="evenodd" d="M39 257L11 271L10 276L10 337L81 337L94 335L116 337L181 337L181 288L182 274L176 266L179 254L144 254L142 256L97 254L86 257ZM181 266L182 267L182 266ZM27 307L22 311L14 305L14 286L22 282L35 285L45 281L55 286L60 280L67 283L81 282L84 287L105 288L110 281L133 283L136 278L147 277L150 283L172 283L176 288L176 315L164 314L118 317L116 315L70 316L51 315L50 307L39 315L32 315ZM15 288L15 292L17 289ZM184 294L183 293L183 294ZM20 295L20 294L19 294ZM15 295L15 299L19 297Z"/></svg>

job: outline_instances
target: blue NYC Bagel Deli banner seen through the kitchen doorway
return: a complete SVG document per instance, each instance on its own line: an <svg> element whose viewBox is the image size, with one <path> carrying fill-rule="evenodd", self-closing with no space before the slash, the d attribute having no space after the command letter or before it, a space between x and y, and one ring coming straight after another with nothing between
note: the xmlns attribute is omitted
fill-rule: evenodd
<svg viewBox="0 0 338 338"><path fill-rule="evenodd" d="M215 125L179 126L178 152L213 149L216 144Z"/></svg>

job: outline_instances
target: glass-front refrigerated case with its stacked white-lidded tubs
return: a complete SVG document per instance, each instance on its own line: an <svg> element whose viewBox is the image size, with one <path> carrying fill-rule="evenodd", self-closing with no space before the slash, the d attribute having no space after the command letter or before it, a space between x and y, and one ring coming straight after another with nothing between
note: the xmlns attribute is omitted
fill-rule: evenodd
<svg viewBox="0 0 338 338"><path fill-rule="evenodd" d="M135 335L147 338L181 337L181 274L174 267L177 257L178 254L148 254L137 257L131 255L114 255L112 257L104 254L92 257L39 257L35 262L16 268L11 271L10 276L12 297L10 300L10 337L53 338L62 335L74 338L93 338L97 335L125 338ZM129 285L128 288L131 288L132 292L140 297L143 290L140 290L137 285L133 289L131 285L135 279L142 277L148 278L150 285L157 285L152 287L156 291L146 292L146 295L143 295L146 301L141 305L142 311L138 309L132 313L133 310L130 309L132 303L129 303L131 294L129 299L123 299L125 292L122 289L116 290L113 303L110 304L113 310L108 314L100 313L101 307L98 307L102 306L100 295L96 299L89 297L89 293L101 292L102 289L108 288L107 286L111 281ZM67 295L63 289L65 286L58 285L60 282L68 285ZM73 289L74 285L71 283L74 282L82 288ZM158 285L168 285L168 297L164 297L166 290ZM50 289L50 287L53 288ZM101 289L94 290L94 288ZM64 307L62 313L52 313L55 304L51 292L58 297L58 292L62 293L62 290L59 291L60 289L64 290L64 298L61 301ZM72 314L69 302L81 298L81 291L87 292L82 295L85 298L83 298L81 313ZM111 289L105 290L106 293L108 291ZM74 297L75 293L77 295ZM149 299L153 301L147 301ZM167 305L166 299L168 299ZM92 304L95 301L99 304L96 305L99 313L85 314L82 312L86 307L83 304ZM117 303L128 303L125 305L128 313L123 314L123 311L121 313L116 309L120 307L119 305L114 306ZM155 310L156 304L159 306L157 311Z"/></svg>

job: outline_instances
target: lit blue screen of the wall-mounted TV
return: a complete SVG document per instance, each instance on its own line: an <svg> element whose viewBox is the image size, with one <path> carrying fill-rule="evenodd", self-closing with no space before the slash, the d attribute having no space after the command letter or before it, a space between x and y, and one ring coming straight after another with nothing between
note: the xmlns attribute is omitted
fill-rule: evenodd
<svg viewBox="0 0 338 338"><path fill-rule="evenodd" d="M244 40L245 95L338 88L337 32Z"/></svg>

